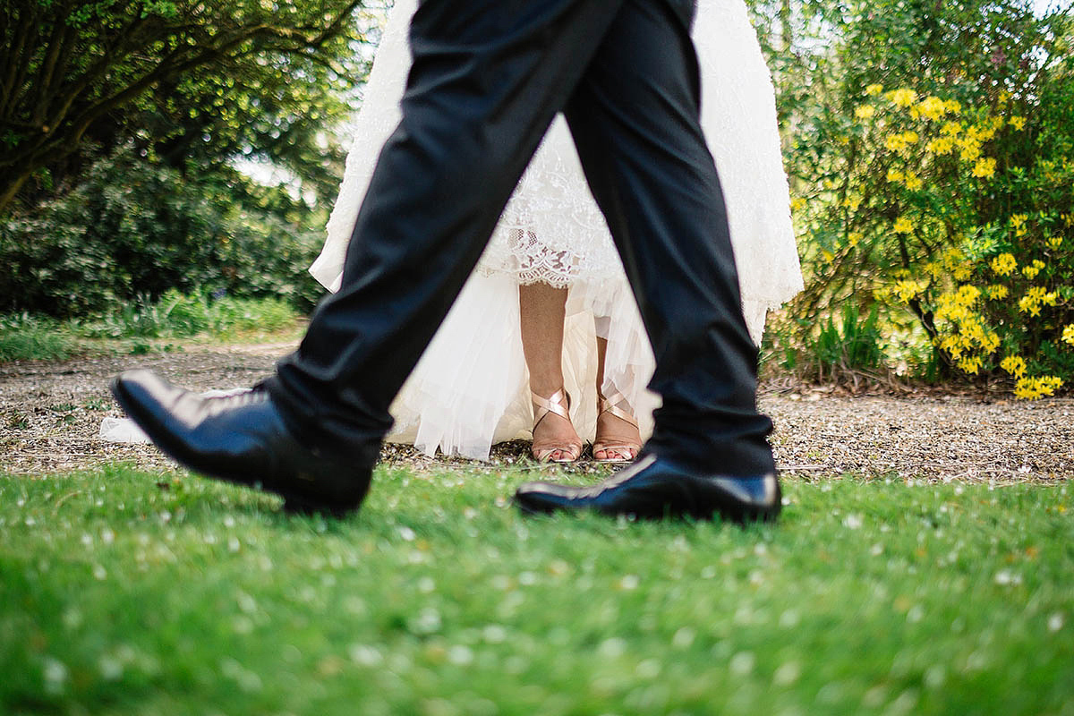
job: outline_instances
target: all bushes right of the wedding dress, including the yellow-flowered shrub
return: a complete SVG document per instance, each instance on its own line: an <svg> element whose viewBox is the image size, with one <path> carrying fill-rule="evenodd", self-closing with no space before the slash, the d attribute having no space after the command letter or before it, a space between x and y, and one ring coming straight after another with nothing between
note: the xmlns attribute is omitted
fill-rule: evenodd
<svg viewBox="0 0 1074 716"><path fill-rule="evenodd" d="M1074 378L1070 10L891 0L810 17L828 42L799 44L778 75L808 88L780 96L800 340L845 302L875 303L947 378L1010 375L1020 397Z"/></svg>

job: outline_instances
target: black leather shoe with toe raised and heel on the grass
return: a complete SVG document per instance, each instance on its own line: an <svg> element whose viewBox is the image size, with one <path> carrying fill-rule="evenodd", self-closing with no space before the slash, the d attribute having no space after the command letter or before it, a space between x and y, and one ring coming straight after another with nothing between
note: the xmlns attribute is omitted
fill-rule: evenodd
<svg viewBox="0 0 1074 716"><path fill-rule="evenodd" d="M207 398L151 370L128 370L111 388L127 414L180 464L280 495L288 511L343 515L357 510L369 488L379 444L346 457L305 448L262 389Z"/></svg>

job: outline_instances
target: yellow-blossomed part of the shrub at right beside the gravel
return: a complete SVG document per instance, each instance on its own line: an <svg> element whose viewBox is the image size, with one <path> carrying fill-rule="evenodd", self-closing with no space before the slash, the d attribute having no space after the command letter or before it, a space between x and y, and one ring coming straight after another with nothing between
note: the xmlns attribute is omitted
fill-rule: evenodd
<svg viewBox="0 0 1074 716"><path fill-rule="evenodd" d="M972 106L875 84L865 98L847 142L868 152L868 174L821 182L838 195L842 223L819 247L826 271L887 251L872 295L892 321L904 310L919 322L953 377L1006 376L1017 397L1053 395L1074 379L1074 251L1063 240L1074 237L1074 198L1057 206L1029 191L1002 206L988 199L1026 182L1010 151L1029 120L1011 98ZM1040 169L1057 189L1074 184L1074 162Z"/></svg>

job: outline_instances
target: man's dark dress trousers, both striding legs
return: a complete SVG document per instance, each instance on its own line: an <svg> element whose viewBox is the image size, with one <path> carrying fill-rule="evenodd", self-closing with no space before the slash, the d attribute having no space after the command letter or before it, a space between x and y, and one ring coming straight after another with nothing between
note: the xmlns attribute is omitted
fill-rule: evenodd
<svg viewBox="0 0 1074 716"><path fill-rule="evenodd" d="M556 112L649 333L663 398L645 451L773 470L757 351L699 113L693 0L424 0L403 118L326 297L268 390L300 439L380 440Z"/></svg>

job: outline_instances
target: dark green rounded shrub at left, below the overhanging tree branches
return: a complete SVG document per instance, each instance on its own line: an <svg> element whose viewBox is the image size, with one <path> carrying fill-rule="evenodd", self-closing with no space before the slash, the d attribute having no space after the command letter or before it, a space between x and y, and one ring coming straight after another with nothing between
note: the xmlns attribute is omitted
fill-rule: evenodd
<svg viewBox="0 0 1074 716"><path fill-rule="evenodd" d="M33 216L0 219L0 309L87 316L195 288L308 308L321 295L305 271L320 232L256 205L243 211L235 186L265 190L231 179L186 182L130 152L98 162Z"/></svg>

